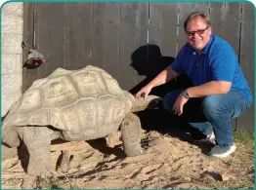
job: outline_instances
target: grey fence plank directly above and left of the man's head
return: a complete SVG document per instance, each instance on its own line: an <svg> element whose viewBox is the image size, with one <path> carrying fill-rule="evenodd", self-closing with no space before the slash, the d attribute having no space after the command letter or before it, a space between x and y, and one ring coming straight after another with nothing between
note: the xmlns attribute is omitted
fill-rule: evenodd
<svg viewBox="0 0 256 190"><path fill-rule="evenodd" d="M178 50L187 43L187 36L184 31L184 21L194 11L202 11L209 14L209 3L179 3L179 34Z"/></svg>

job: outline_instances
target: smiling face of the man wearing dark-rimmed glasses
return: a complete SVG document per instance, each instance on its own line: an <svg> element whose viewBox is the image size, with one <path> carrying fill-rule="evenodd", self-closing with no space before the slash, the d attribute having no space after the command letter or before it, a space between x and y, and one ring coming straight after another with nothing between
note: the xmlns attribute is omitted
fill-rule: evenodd
<svg viewBox="0 0 256 190"><path fill-rule="evenodd" d="M210 40L211 27L208 27L204 19L197 17L188 23L186 33L192 48L200 53Z"/></svg>

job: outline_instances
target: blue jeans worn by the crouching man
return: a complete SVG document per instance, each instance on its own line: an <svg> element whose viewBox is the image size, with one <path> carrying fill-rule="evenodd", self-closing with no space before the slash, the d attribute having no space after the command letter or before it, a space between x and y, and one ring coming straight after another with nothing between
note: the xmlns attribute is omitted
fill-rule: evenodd
<svg viewBox="0 0 256 190"><path fill-rule="evenodd" d="M168 112L173 113L172 107L183 91L174 91L164 96L163 106ZM226 95L207 95L190 98L184 105L181 117L200 130L213 127L218 144L231 144L234 142L232 118L245 113L250 105L251 102L237 91Z"/></svg>

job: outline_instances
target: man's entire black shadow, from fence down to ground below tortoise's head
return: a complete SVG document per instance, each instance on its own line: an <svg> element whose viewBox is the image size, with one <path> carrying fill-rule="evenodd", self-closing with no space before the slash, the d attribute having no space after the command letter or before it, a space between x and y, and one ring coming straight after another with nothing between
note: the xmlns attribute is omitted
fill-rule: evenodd
<svg viewBox="0 0 256 190"><path fill-rule="evenodd" d="M162 57L160 48L157 45L141 46L131 56L131 66L138 72L138 75L146 76L146 79L130 90L135 95L145 85L147 85L154 77L156 77L163 69L174 61L174 57ZM150 95L164 95L185 87L191 87L191 80L187 75L181 75L175 80L167 84L155 87ZM172 136L180 137L190 141L186 133L191 133L193 129L189 123L185 123L167 113L163 107L156 110L144 110L138 112L142 128L146 131L156 131L158 133L169 133ZM196 131L196 130L195 130Z"/></svg>

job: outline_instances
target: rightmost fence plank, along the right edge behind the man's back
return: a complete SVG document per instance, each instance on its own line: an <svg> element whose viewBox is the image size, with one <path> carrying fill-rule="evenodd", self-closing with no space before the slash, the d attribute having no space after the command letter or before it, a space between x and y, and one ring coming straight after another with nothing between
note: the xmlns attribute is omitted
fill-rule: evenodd
<svg viewBox="0 0 256 190"><path fill-rule="evenodd" d="M250 3L242 3L240 66L254 96L254 7ZM247 113L237 118L237 128L254 131L254 97Z"/></svg>

